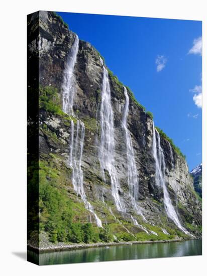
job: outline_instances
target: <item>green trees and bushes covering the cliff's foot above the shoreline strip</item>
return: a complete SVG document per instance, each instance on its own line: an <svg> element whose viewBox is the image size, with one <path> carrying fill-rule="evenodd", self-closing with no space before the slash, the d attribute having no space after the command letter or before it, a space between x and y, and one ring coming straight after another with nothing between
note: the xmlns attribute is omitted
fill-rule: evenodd
<svg viewBox="0 0 207 276"><path fill-rule="evenodd" d="M99 228L86 221L88 211L84 204L71 193L70 169L63 166L56 154L43 155L39 162L39 230L46 232L52 243L95 243L111 241L144 241L168 240L179 234L179 231L166 228L170 235L165 235L161 228L146 224L157 235L140 232L133 233L131 223L120 225L118 222ZM69 185L69 186L68 186ZM94 204L94 203L93 203ZM106 212L106 211L105 211ZM105 213L107 219L113 219ZM126 232L130 229L130 233ZM31 233L33 235L33 233Z"/></svg>

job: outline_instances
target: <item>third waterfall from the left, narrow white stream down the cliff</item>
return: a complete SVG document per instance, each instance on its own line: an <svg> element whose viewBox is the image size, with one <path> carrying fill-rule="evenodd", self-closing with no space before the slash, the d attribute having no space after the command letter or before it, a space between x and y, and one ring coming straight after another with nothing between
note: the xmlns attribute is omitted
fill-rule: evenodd
<svg viewBox="0 0 207 276"><path fill-rule="evenodd" d="M128 186L129 186L129 195L131 198L131 202L133 205L134 210L141 214L136 201L138 200L138 193L139 193L139 181L137 178L137 167L135 163L135 156L134 150L132 145L132 138L130 132L127 127L127 117L129 112L129 96L127 93L127 89L124 86L124 94L125 94L125 107L124 113L122 118L123 128L125 130L126 136L126 152L127 152L127 173L128 173ZM133 219L134 221L134 219Z"/></svg>

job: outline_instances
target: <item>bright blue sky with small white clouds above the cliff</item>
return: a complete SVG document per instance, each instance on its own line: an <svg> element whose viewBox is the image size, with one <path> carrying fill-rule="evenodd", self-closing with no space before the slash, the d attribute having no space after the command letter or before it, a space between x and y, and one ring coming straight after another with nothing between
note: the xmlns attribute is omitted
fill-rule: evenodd
<svg viewBox="0 0 207 276"><path fill-rule="evenodd" d="M154 115L186 155L202 159L201 21L58 13Z"/></svg>

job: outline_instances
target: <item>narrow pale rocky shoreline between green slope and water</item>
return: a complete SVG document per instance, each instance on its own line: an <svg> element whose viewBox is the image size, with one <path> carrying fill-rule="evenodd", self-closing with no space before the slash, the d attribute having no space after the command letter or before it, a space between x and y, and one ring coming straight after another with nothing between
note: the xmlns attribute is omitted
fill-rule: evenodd
<svg viewBox="0 0 207 276"><path fill-rule="evenodd" d="M198 238L196 238L198 239ZM59 245L51 245L48 247L35 247L33 245L28 244L27 249L35 251L37 253L48 253L48 252L58 252L58 251L69 251L69 250L79 250L79 249L87 249L87 248L96 248L96 247L106 247L106 246L119 246L119 245L132 245L132 244L149 244L149 243L168 243L168 242L178 242L178 241L186 241L186 240L194 240L194 239L171 239L171 240L145 240L145 241L120 241L120 242L97 242L97 243L74 243L74 244L59 244Z"/></svg>

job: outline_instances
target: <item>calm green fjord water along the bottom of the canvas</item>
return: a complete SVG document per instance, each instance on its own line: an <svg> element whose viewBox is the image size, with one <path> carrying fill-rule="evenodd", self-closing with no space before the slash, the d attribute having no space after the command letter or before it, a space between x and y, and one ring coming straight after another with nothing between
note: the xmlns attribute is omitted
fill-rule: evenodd
<svg viewBox="0 0 207 276"><path fill-rule="evenodd" d="M202 240L169 243L117 245L62 252L41 253L39 264L131 260L161 257L181 257L202 254ZM28 260L38 263L38 254L28 251Z"/></svg>

